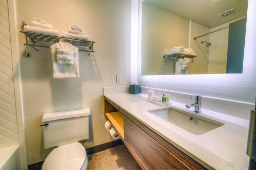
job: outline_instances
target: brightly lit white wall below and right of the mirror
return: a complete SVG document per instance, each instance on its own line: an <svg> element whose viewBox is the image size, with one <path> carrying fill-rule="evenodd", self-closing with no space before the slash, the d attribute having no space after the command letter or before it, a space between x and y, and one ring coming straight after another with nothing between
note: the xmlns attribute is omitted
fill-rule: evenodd
<svg viewBox="0 0 256 170"><path fill-rule="evenodd" d="M243 74L141 76L139 72L138 82L145 87L166 89L189 94L201 94L204 96L248 102L251 104L255 103L255 6L256 2L254 0L248 1ZM138 62L140 63L140 53L138 56Z"/></svg>

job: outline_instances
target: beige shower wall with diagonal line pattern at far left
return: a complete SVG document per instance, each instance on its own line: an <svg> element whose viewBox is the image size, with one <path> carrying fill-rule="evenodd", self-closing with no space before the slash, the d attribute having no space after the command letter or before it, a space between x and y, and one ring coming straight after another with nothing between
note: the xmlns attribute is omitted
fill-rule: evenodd
<svg viewBox="0 0 256 170"><path fill-rule="evenodd" d="M7 0L0 0L0 148L18 144Z"/></svg>

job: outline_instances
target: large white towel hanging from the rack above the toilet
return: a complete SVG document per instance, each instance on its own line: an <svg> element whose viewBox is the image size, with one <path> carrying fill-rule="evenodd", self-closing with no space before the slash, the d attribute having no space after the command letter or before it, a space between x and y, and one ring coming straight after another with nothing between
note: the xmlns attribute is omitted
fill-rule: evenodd
<svg viewBox="0 0 256 170"><path fill-rule="evenodd" d="M57 48L70 49L73 47L73 64L59 64L57 62ZM57 42L51 45L52 62L53 62L53 77L54 79L61 78L79 78L79 64L78 64L78 48L74 47L68 42Z"/></svg>

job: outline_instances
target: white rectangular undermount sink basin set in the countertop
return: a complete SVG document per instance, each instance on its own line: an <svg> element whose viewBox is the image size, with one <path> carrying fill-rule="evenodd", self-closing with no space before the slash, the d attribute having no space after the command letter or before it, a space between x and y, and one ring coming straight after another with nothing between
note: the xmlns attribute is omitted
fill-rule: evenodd
<svg viewBox="0 0 256 170"><path fill-rule="evenodd" d="M195 135L202 135L224 125L223 123L200 116L200 114L175 108L150 110L148 112Z"/></svg>

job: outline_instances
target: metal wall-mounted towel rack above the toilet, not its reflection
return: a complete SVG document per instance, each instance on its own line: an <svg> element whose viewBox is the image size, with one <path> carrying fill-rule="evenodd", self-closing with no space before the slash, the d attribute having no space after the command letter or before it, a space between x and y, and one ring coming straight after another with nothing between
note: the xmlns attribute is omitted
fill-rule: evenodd
<svg viewBox="0 0 256 170"><path fill-rule="evenodd" d="M25 25L26 25L25 22L23 22L23 26L25 26ZM56 42L65 41L65 42L71 43L74 46L77 46L79 51L89 52L89 55L91 53L95 52L93 50L93 44L95 43L95 41L89 41L89 40L83 40L83 39L77 39L77 38L59 37L59 36L53 36L53 35L47 35L47 34L41 34L41 33L35 33L35 32L28 32L28 31L24 31L23 27L20 32L24 33L26 36L26 43L24 43L24 45L31 46L36 51L39 51L36 47L48 47L49 48L50 45L52 45ZM28 38L32 41L32 43L29 42ZM47 42L47 43L50 43L50 45L39 44L38 41ZM25 56L30 57L30 54L27 51L25 51Z"/></svg>

